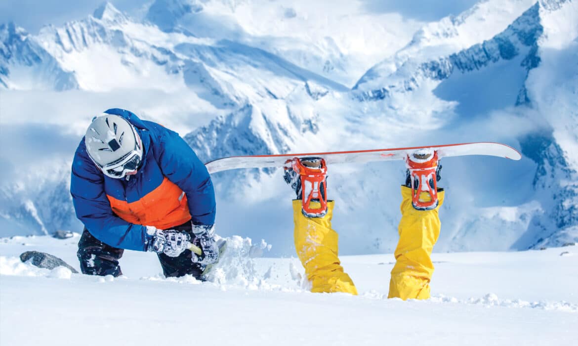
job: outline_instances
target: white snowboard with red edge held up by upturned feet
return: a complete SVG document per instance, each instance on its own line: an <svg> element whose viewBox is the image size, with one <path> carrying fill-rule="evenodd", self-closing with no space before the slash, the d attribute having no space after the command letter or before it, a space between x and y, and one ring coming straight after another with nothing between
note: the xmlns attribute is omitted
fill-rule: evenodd
<svg viewBox="0 0 578 346"><path fill-rule="evenodd" d="M418 149L433 149L443 157L465 155L488 155L520 160L521 154L509 145L493 142L459 143L448 145L413 146L409 148L353 150L349 152L320 152L276 155L229 156L209 161L205 167L209 173L216 173L238 168L283 167L288 160L297 157L320 157L327 165L334 163L367 163L372 161L405 160L407 155Z"/></svg>

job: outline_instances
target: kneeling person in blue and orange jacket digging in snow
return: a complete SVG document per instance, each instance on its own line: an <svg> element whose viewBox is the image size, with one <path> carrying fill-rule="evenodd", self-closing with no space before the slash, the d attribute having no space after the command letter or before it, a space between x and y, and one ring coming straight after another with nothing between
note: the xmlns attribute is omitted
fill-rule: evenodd
<svg viewBox="0 0 578 346"><path fill-rule="evenodd" d="M95 117L76 149L71 194L84 224L77 252L83 274L122 275L124 249L157 253L165 277L200 279L218 260L209 173L160 124L118 108ZM201 255L189 250L191 242Z"/></svg>

